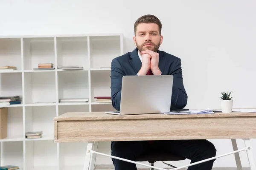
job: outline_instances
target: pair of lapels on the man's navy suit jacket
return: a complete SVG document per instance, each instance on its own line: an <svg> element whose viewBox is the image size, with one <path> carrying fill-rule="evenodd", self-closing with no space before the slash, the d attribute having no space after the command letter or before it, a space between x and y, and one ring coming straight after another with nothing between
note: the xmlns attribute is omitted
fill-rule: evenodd
<svg viewBox="0 0 256 170"><path fill-rule="evenodd" d="M157 51L157 52L159 53L158 67L163 74L164 67L165 67L165 58L163 57L163 51ZM138 56L137 48L135 48L134 51L131 52L131 59L129 60L129 62L131 64L131 66L133 67L134 71L136 73L138 73L140 71L142 63Z"/></svg>

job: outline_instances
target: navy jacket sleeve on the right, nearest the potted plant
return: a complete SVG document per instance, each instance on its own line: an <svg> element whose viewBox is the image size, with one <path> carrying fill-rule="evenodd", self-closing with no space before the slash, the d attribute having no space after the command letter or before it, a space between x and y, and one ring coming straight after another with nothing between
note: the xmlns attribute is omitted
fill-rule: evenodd
<svg viewBox="0 0 256 170"><path fill-rule="evenodd" d="M171 109L182 109L187 104L188 96L183 85L181 60L177 59L174 67L171 68L170 74L173 75Z"/></svg>

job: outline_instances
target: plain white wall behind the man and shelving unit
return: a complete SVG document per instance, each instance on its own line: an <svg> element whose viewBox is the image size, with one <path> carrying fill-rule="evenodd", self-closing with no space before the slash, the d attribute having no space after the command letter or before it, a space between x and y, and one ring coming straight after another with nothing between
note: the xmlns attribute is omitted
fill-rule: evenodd
<svg viewBox="0 0 256 170"><path fill-rule="evenodd" d="M161 50L182 59L187 108L220 108L221 91L233 91L235 108L256 108L255 8L255 0L1 0L0 35L123 33L128 52L135 20L154 14L163 24ZM211 141L218 155L232 150L229 140ZM233 156L214 164L235 166Z"/></svg>

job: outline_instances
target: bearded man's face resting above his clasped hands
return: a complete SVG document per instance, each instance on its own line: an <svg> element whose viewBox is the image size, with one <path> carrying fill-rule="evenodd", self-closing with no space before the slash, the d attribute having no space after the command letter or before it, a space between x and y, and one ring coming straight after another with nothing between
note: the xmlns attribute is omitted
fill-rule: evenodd
<svg viewBox="0 0 256 170"><path fill-rule="evenodd" d="M163 36L160 36L157 24L140 23L133 40L140 52L145 50L157 52L163 42Z"/></svg>

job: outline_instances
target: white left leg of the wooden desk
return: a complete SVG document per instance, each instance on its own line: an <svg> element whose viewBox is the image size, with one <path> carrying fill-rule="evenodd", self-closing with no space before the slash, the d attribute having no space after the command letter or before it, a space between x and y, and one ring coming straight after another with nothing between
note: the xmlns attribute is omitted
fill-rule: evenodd
<svg viewBox="0 0 256 170"><path fill-rule="evenodd" d="M97 149L98 149L98 142L88 142L83 170L94 170L96 155L90 154L88 150L97 150Z"/></svg>

